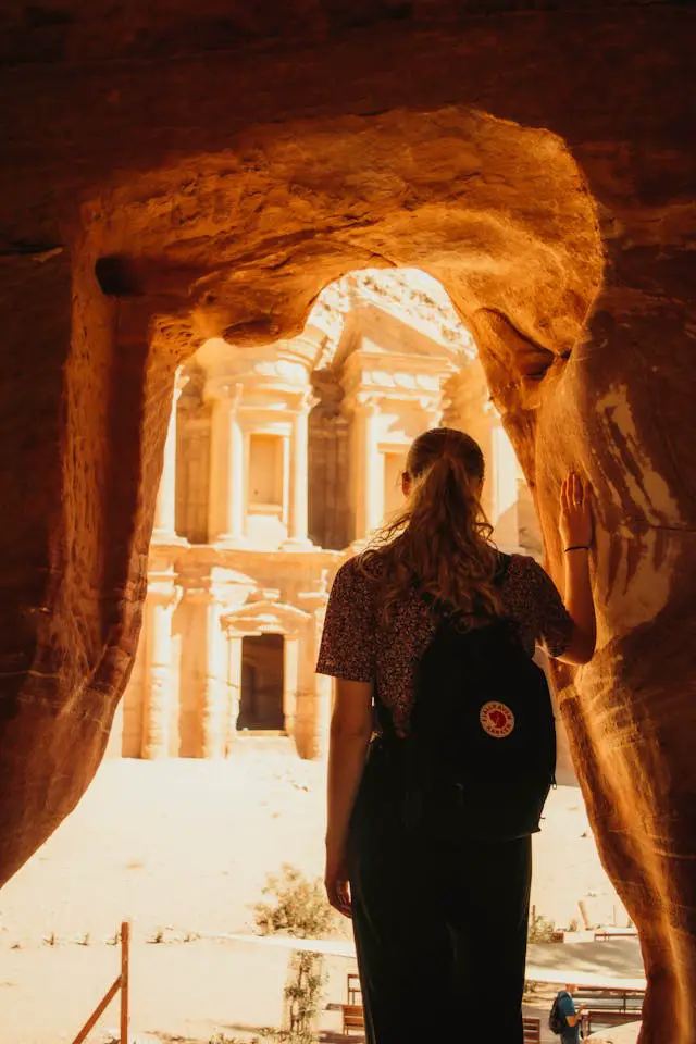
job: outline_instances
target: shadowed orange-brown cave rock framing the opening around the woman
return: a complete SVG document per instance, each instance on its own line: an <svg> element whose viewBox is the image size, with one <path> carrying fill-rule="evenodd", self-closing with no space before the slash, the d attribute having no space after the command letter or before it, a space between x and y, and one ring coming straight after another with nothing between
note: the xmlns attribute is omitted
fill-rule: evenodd
<svg viewBox="0 0 696 1044"><path fill-rule="evenodd" d="M641 1040L688 1044L694 13L512 7L3 9L0 877L102 756L178 362L299 332L352 269L418 266L476 337L557 579L559 483L596 489L599 649L558 681L641 929Z"/></svg>

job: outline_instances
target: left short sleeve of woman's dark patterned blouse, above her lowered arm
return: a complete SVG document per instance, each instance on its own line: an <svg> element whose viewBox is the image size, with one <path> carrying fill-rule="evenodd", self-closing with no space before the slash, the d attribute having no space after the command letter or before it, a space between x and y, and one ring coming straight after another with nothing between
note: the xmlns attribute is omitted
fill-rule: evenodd
<svg viewBox="0 0 696 1044"><path fill-rule="evenodd" d="M374 678L374 582L349 559L336 573L316 663L318 674L350 682Z"/></svg>

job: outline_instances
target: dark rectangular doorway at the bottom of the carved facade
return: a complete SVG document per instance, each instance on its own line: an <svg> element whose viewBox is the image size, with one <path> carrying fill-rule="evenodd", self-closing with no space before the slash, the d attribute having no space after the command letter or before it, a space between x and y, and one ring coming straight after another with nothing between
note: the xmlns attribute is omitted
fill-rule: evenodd
<svg viewBox="0 0 696 1044"><path fill-rule="evenodd" d="M239 732L283 732L285 712L284 637L250 635L241 641Z"/></svg>

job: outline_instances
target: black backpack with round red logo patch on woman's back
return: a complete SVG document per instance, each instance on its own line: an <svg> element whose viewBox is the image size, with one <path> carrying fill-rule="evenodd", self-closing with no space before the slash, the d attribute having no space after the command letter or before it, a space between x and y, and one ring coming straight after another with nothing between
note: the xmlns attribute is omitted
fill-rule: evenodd
<svg viewBox="0 0 696 1044"><path fill-rule="evenodd" d="M508 564L501 556L500 579ZM556 769L544 671L511 621L462 630L447 607L433 608L439 624L402 741L406 824L443 840L535 833Z"/></svg>

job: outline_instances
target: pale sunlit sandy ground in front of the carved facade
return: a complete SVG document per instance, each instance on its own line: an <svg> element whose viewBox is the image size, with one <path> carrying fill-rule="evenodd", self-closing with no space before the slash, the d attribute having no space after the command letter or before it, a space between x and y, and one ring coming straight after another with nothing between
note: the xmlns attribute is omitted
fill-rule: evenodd
<svg viewBox="0 0 696 1044"><path fill-rule="evenodd" d="M105 762L0 894L0 1044L72 1040L117 973L109 942L124 918L134 925L136 1041L208 1042L278 1024L288 952L185 940L249 932L266 874L284 862L321 873L324 786L323 766L262 741L240 743L223 763ZM551 794L535 865L533 903L557 924L580 919L580 899L596 923L614 909L625 917L577 790ZM328 959L327 1000L344 999L349 967ZM115 1021L112 1009L90 1040ZM323 1024L337 1029L336 1012Z"/></svg>

